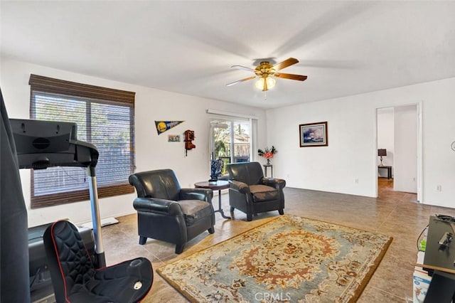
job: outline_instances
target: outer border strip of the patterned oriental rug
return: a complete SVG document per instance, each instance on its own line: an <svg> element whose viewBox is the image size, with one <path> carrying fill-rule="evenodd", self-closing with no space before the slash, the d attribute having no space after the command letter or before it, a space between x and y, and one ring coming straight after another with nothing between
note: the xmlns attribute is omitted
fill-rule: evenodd
<svg viewBox="0 0 455 303"><path fill-rule="evenodd" d="M350 229L353 229L353 230L360 230L360 231L366 231L366 232L369 232L369 233L375 233L375 234L378 234L378 235L382 235L382 236L385 236L387 237L389 240L387 240L387 243L384 244L384 246L382 247L382 249L380 250L380 252L378 253L378 257L376 257L375 261L373 262L373 265L374 266L371 266L370 267L370 270L366 273L365 275L365 278L363 279L362 283L358 286L358 288L355 290L355 294L353 295L353 298L350 300L350 302L356 302L358 300L358 298L360 297L360 295L362 294L363 290L365 289L366 285L368 285L368 282L370 282L370 279L371 277L373 277L375 271L378 269L379 265L380 265L380 262L382 262L382 259L384 258L385 256L385 253L387 252L388 248L390 247L390 244L392 243L392 240L393 240L393 237L390 237L389 235L384 235L382 233L378 233L378 232L375 232L375 231L371 231L371 230L364 230L364 229L360 229L360 228L353 228L353 227L350 227L350 226L346 226L346 225L341 225L341 224L338 224L338 223L331 223L331 222L327 222L327 221L324 221L324 220L318 220L318 219L313 219L313 218L306 218L306 217L302 217L302 216L296 216L296 215L289 215L289 214L285 214L283 216L279 216L279 217L276 217L276 218L272 218L271 220L267 220L267 222L264 222L264 223L261 223L253 228L250 228L248 230L245 230L243 231L242 233L239 233L237 235L234 235L228 239L225 239L225 240L222 240L218 243L215 243L213 245L210 245L206 248L203 248L203 249L200 249L196 252L193 252L191 253L191 255L187 255L185 257L180 257L178 258L177 260L172 260L171 262L168 262L164 265L161 265L160 267L158 267L156 269L156 272L158 272L158 274L160 275L160 277L162 277L166 282L168 282L169 285L171 285L172 287L174 287L179 293L181 293L184 297L186 297L186 299L188 299L188 301L190 302L195 302L197 303L198 301L196 299L193 298L193 296L191 294L189 294L188 292L186 292L185 290L181 289L181 287L179 285L177 285L176 283L173 282L173 280L169 279L168 277L166 277L161 271L164 269L164 267L168 266L168 265L172 265L173 263L176 263L176 262L179 262L180 260L183 260L183 259L187 259L187 258L190 258L190 257L193 257L193 255L197 255L198 253L200 252L203 252L204 250L208 250L210 248L215 248L216 246L220 246L220 245L223 245L223 243L227 242L227 241L230 241L230 240L233 240L235 238L240 238L240 236L242 236L243 234L245 233L249 233L251 232L252 230L255 230L257 228L262 228L264 225L267 225L269 223L272 223L274 222L275 220L280 220L282 219L283 217L288 217L288 218L291 218L291 217L299 217L299 218L304 218L306 220L314 220L314 221L319 221L321 223L326 223L326 224L330 224L330 225L338 225L338 226L341 226L343 228L350 228Z"/></svg>

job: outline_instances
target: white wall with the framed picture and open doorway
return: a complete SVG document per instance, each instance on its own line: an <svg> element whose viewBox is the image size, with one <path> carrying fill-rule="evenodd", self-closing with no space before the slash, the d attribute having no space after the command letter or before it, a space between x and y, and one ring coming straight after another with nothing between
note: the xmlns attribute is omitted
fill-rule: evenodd
<svg viewBox="0 0 455 303"><path fill-rule="evenodd" d="M449 78L267 110L267 144L279 150L274 174L291 187L375 196L376 109L422 101L422 202L455 207L454 95ZM299 124L321 121L328 122L328 147L299 147Z"/></svg>

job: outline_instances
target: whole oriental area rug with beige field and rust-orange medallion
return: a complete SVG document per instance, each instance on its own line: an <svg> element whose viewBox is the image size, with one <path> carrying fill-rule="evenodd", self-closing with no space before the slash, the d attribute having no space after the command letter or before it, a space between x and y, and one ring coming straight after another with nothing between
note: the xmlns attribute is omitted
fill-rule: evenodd
<svg viewBox="0 0 455 303"><path fill-rule="evenodd" d="M391 242L286 215L157 271L191 302L355 302Z"/></svg>

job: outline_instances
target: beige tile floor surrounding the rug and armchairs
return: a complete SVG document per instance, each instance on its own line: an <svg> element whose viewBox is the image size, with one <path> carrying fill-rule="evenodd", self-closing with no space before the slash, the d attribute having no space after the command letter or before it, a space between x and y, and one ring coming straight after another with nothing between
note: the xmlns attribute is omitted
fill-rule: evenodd
<svg viewBox="0 0 455 303"><path fill-rule="evenodd" d="M412 302L412 273L417 256L417 237L427 226L430 215L443 213L455 216L455 209L419 204L415 194L394 192L392 180L381 178L379 184L378 198L285 188L284 213L392 236L394 240L390 248L358 302ZM222 195L222 201L227 213L228 199L226 191ZM217 197L214 201L217 201ZM240 211L235 211L233 215L234 220L225 220L220 213L215 213L215 233L203 233L191 240L181 255L174 254L173 245L158 240L149 239L146 245L139 245L137 216L119 217L119 224L102 229L107 264L142 256L149 258L156 269L166 262L190 255L264 223L271 217L279 216L277 211L261 213L247 222L246 216ZM143 302L187 300L154 272L154 284Z"/></svg>

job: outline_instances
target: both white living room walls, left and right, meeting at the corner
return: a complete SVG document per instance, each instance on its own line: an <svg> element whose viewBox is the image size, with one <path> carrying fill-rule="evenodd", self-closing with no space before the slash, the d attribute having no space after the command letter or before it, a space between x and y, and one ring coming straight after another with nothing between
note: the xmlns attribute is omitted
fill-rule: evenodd
<svg viewBox="0 0 455 303"><path fill-rule="evenodd" d="M182 186L208 179L209 117L207 108L259 117L258 146L278 149L274 156L274 176L287 186L321 191L375 196L378 176L376 110L422 101L423 112L423 203L455 207L455 78L370 92L280 109L259 110L149 87L118 83L87 75L69 73L7 58L0 61L0 86L11 118L28 118L31 73L63 80L137 92L136 153L137 171L170 167ZM267 124L266 124L266 118ZM185 120L161 136L155 120ZM328 121L328 147L299 147L299 124ZM183 142L168 143L167 134L196 131L196 149L184 155ZM267 129L267 132L261 131ZM267 138L266 138L267 136ZM266 140L267 139L267 140ZM180 144L180 145L179 145ZM23 193L30 208L30 174L21 170ZM358 183L355 181L358 180ZM436 186L441 186L441 191ZM136 195L100 199L102 218L134 212ZM76 223L90 220L88 201L65 206L28 209L30 226L70 218Z"/></svg>

